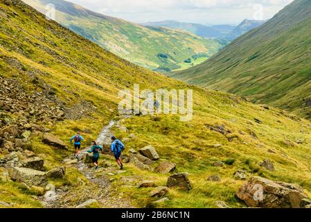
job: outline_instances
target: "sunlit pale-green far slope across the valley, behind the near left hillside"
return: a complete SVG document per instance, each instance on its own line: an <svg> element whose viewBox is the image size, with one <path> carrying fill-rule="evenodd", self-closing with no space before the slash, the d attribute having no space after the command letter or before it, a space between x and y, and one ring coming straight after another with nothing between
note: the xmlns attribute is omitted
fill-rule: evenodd
<svg viewBox="0 0 311 222"><path fill-rule="evenodd" d="M159 71L179 69L179 62L197 53L209 57L222 46L216 40L206 40L186 31L144 27L123 19L91 12L81 6L60 0L25 0L40 12L46 5L56 8L56 22L99 44L137 65Z"/></svg>

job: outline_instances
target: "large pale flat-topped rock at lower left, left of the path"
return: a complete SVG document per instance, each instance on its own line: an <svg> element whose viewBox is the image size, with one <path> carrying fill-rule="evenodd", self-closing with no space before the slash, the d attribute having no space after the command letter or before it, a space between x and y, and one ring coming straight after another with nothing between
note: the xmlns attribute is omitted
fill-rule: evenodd
<svg viewBox="0 0 311 222"><path fill-rule="evenodd" d="M48 182L44 172L21 167L12 169L11 179L16 182L24 182L29 187L45 187Z"/></svg>

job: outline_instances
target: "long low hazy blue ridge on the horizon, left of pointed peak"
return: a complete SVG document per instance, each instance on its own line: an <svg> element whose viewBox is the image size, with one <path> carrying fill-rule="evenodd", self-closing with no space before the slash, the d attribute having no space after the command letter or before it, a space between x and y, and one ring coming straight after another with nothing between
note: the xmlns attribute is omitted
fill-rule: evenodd
<svg viewBox="0 0 311 222"><path fill-rule="evenodd" d="M233 25L215 25L215 26L204 26L202 24L177 22L177 21L162 21L162 22L148 22L143 24L144 26L155 26L155 27L167 27L167 28L179 28L184 31L188 31L195 35L207 38L219 38L223 39L236 26Z"/></svg>

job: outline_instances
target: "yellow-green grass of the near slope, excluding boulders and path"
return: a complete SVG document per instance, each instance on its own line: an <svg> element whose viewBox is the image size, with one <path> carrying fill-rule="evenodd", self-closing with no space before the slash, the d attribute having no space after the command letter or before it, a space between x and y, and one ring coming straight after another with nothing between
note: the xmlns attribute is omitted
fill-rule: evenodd
<svg viewBox="0 0 311 222"><path fill-rule="evenodd" d="M62 166L62 160L73 153L68 141L77 130L86 139L83 146L88 146L110 119L120 119L116 112L119 89L132 89L134 83L139 83L141 89L193 89L194 117L190 122L180 122L178 115L141 116L125 119L122 124L127 130L114 128L116 136L126 141L125 154L130 148L137 151L150 144L157 149L160 162L175 162L177 171L188 172L193 183L193 190L170 189L170 200L154 205L156 198L150 197L150 188L139 189L122 181L124 177L139 176L155 180L157 186L166 185L169 175L125 164L125 173L109 174L108 181L117 191L114 198L130 199L136 207L217 207L215 200L231 207L245 207L235 196L243 183L233 178L237 169L245 169L248 176L294 182L310 196L310 121L133 65L59 24L48 22L44 15L19 0L0 2L0 73L0 92L8 92L0 94L0 133L13 122L21 123L18 126L36 123L69 146L69 151L56 149L42 143L42 134L31 133L23 150L44 158L46 171ZM17 96L23 99L16 100ZM39 103L37 99L44 100ZM10 101L10 108L4 105L6 101ZM33 105L37 112L29 109ZM55 109L64 110L64 117L48 117L48 111ZM130 135L132 139L125 140ZM9 135L5 139L15 138ZM0 151L1 159L6 153L2 147ZM265 159L274 163L276 171L259 166ZM213 167L215 161L224 162L224 166ZM115 163L102 155L102 170L105 164ZM64 179L49 182L66 190L66 202L75 206L96 189L75 166L66 167ZM42 207L42 194L12 182L7 176L9 170L0 167L0 201L7 203L0 202L0 207ZM215 173L222 181L208 182L206 178Z"/></svg>

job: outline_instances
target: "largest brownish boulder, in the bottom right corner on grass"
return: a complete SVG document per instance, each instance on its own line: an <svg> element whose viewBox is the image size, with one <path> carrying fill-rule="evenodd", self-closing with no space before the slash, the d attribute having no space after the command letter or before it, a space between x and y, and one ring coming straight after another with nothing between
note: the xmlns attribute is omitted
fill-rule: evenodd
<svg viewBox="0 0 311 222"><path fill-rule="evenodd" d="M249 207L299 208L306 198L298 185L254 176L236 194Z"/></svg>

